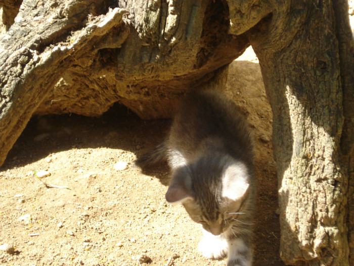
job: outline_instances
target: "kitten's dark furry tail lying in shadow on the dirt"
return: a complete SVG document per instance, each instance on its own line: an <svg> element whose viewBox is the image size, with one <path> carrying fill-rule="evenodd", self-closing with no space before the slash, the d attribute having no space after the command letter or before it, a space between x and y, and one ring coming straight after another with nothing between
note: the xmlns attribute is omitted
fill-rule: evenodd
<svg viewBox="0 0 354 266"><path fill-rule="evenodd" d="M148 153L135 160L135 165L140 168L148 168L166 161L166 141L161 142Z"/></svg>

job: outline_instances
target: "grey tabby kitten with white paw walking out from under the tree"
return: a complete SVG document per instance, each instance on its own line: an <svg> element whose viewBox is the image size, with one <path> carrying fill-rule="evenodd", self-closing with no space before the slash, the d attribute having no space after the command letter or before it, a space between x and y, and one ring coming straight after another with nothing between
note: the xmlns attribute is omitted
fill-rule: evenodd
<svg viewBox="0 0 354 266"><path fill-rule="evenodd" d="M221 92L197 90L182 102L169 136L136 164L167 159L169 203L181 203L201 223L199 249L227 266L252 264L255 197L253 139L237 106Z"/></svg>

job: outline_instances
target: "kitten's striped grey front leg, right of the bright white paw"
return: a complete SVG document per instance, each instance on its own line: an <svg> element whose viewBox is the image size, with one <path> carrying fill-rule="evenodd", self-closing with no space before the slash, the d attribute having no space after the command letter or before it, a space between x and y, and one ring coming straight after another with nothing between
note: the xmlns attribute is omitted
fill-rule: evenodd
<svg viewBox="0 0 354 266"><path fill-rule="evenodd" d="M229 256L227 266L251 266L252 248L249 241L241 238L229 240Z"/></svg>

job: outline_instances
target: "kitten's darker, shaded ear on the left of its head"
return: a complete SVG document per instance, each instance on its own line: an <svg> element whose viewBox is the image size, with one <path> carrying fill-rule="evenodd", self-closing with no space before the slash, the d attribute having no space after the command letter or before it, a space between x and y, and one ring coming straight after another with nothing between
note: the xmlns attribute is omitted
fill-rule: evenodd
<svg viewBox="0 0 354 266"><path fill-rule="evenodd" d="M187 166L180 167L172 173L165 198L169 203L182 203L192 197L192 178Z"/></svg>

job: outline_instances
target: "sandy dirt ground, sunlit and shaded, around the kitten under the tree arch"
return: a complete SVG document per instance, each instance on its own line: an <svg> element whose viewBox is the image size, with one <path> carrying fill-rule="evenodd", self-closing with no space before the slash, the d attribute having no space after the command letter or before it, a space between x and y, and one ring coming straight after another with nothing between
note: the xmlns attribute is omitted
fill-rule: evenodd
<svg viewBox="0 0 354 266"><path fill-rule="evenodd" d="M254 265L284 265L271 110L257 60L245 56L230 66L227 93L256 139ZM14 246L0 250L0 265L225 265L202 257L201 225L166 203L168 167L134 167L169 124L118 106L101 118L34 117L0 168L0 245Z"/></svg>

